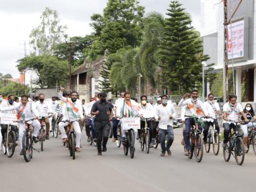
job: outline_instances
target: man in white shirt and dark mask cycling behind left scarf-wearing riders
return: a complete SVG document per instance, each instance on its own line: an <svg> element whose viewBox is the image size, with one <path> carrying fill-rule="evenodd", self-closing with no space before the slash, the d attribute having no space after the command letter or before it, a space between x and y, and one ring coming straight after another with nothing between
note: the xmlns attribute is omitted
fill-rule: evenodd
<svg viewBox="0 0 256 192"><path fill-rule="evenodd" d="M40 117L44 118L44 123L46 124L46 140L49 140L50 123L48 115L51 113L54 116L54 112L49 102L44 100L43 93L40 93L38 97L39 101L35 102L35 108L39 112ZM39 122L41 123L41 119L39 119Z"/></svg>

